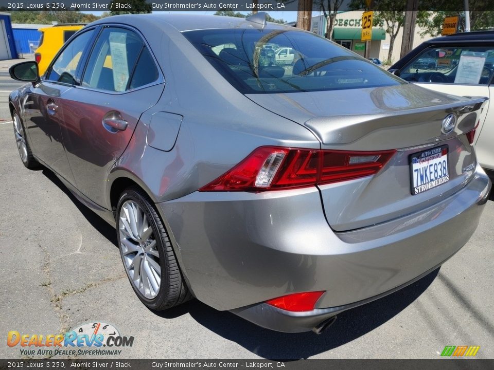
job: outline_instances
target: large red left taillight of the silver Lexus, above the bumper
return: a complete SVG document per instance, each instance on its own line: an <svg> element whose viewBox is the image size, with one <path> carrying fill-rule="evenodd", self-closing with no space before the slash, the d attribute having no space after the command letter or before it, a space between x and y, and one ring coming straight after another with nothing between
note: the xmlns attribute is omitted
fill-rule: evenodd
<svg viewBox="0 0 494 370"><path fill-rule="evenodd" d="M262 191L376 174L396 151L349 152L261 146L199 191Z"/></svg>

